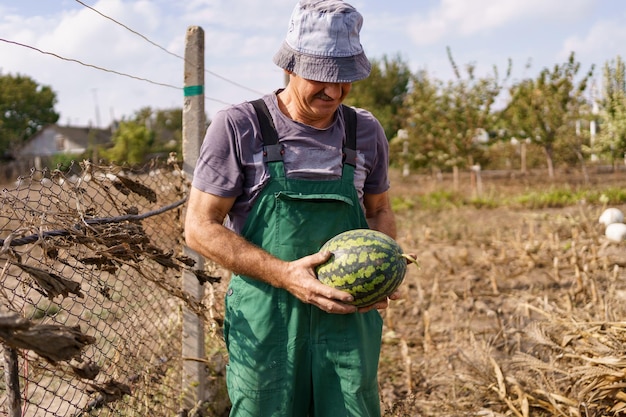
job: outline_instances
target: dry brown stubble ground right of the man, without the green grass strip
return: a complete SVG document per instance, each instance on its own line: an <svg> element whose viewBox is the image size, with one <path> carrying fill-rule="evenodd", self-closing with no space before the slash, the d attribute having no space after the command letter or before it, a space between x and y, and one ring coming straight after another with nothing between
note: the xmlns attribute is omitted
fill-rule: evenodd
<svg viewBox="0 0 626 417"><path fill-rule="evenodd" d="M589 181L626 186L626 175ZM535 173L482 185L515 195L583 182ZM472 184L459 181L467 193ZM395 176L392 195L452 187ZM409 268L403 299L384 313L384 415L626 415L626 246L605 239L603 209L399 210L398 241L420 268Z"/></svg>

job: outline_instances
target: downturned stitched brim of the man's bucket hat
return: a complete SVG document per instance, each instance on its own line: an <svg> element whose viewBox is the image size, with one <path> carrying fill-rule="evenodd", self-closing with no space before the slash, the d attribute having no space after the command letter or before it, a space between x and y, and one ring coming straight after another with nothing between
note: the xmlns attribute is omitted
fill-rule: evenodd
<svg viewBox="0 0 626 417"><path fill-rule="evenodd" d="M326 83L352 83L367 78L372 70L365 53L346 57L312 56L295 51L286 42L273 60L301 78Z"/></svg>

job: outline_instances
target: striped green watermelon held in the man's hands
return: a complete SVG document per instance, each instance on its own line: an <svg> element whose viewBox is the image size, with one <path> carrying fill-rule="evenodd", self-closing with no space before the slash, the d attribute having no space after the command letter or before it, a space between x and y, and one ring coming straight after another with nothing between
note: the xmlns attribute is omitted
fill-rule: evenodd
<svg viewBox="0 0 626 417"><path fill-rule="evenodd" d="M368 306L392 294L406 273L406 257L391 237L376 230L343 232L320 250L332 253L317 267L317 277L354 296L353 305Z"/></svg>

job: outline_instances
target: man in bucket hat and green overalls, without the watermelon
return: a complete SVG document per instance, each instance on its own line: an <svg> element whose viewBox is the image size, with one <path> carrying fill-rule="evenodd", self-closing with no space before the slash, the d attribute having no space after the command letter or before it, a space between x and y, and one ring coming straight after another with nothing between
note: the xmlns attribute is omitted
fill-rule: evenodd
<svg viewBox="0 0 626 417"><path fill-rule="evenodd" d="M389 300L357 309L315 274L330 257L321 245L340 232L395 237L383 129L341 105L371 69L361 25L340 0L301 0L274 56L287 87L218 112L207 130L185 234L233 272L231 416L380 416L377 310Z"/></svg>

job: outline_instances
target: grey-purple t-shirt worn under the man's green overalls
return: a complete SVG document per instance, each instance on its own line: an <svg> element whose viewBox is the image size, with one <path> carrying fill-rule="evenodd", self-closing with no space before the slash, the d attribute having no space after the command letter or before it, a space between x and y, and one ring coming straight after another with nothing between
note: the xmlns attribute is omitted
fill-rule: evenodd
<svg viewBox="0 0 626 417"><path fill-rule="evenodd" d="M345 130L341 107L326 129L295 122L278 108L276 93L263 97L278 140L285 151L288 178L341 177ZM379 194L389 188L389 143L374 116L357 110L357 167L354 185L361 204L363 193ZM207 129L192 185L220 197L237 197L226 224L241 232L259 192L269 179L263 162L263 141L252 104L245 102L215 114Z"/></svg>

